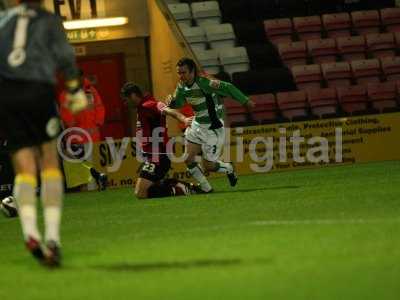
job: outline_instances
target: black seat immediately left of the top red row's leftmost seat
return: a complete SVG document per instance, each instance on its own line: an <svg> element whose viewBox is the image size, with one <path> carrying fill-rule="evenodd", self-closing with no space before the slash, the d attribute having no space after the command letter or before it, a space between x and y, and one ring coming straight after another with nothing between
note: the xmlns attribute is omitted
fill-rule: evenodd
<svg viewBox="0 0 400 300"><path fill-rule="evenodd" d="M264 44L267 42L262 21L236 22L233 24L233 28L240 45L247 46L247 44Z"/></svg>

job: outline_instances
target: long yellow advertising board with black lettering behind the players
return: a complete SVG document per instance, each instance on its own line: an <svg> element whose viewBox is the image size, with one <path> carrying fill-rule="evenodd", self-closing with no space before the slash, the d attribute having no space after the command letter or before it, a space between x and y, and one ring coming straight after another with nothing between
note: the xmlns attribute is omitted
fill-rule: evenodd
<svg viewBox="0 0 400 300"><path fill-rule="evenodd" d="M182 144L174 148L180 157ZM222 159L235 162L239 174L253 174L400 160L399 149L400 113L391 113L232 128L227 130ZM93 163L108 173L111 188L134 184L140 166L136 151L132 139L95 145ZM173 163L172 168L171 177L190 180L183 163Z"/></svg>

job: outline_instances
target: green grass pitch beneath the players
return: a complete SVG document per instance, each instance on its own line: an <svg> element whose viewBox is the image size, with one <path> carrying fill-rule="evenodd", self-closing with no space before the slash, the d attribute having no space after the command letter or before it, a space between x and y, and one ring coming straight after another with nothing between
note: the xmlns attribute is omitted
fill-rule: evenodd
<svg viewBox="0 0 400 300"><path fill-rule="evenodd" d="M0 299L400 299L400 162L212 183L67 195L60 270L0 217Z"/></svg>

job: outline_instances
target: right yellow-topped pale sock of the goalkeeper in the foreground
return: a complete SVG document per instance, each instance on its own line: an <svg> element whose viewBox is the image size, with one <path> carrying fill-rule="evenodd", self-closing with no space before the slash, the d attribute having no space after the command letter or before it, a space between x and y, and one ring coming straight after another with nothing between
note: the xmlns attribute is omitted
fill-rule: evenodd
<svg viewBox="0 0 400 300"><path fill-rule="evenodd" d="M63 196L62 174L59 169L47 169L42 172L41 179L45 240L60 243L60 223Z"/></svg>

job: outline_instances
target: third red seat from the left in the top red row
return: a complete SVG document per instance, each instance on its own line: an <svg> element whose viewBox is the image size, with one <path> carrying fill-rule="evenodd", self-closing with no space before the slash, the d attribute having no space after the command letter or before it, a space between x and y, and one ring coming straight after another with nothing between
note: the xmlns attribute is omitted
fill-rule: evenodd
<svg viewBox="0 0 400 300"><path fill-rule="evenodd" d="M322 23L330 38L351 35L351 19L348 13L323 15Z"/></svg>

